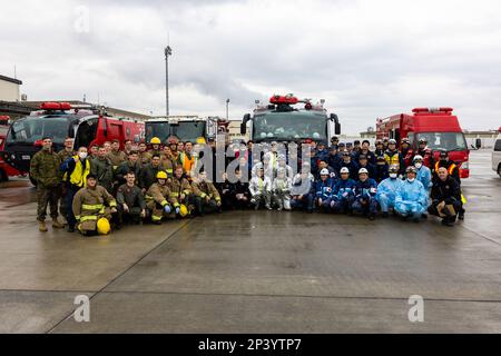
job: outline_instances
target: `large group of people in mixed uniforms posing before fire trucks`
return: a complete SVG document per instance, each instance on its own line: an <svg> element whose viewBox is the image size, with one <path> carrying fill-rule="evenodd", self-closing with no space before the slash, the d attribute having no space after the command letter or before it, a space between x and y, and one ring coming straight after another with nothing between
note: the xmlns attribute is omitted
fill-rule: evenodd
<svg viewBox="0 0 501 356"><path fill-rule="evenodd" d="M39 229L48 230L48 206L53 228L65 227L60 212L68 230L82 235L247 208L361 214L371 220L380 210L384 218L393 210L415 221L432 214L448 226L464 217L458 166L445 151L435 162L424 140L415 151L407 139L399 148L393 139L377 140L374 151L369 140L305 144L303 154L281 151L277 142L257 152L252 141L236 144L238 165L228 172L227 146L219 151L204 138L195 142L198 149L176 137L164 145L155 137L137 146L127 140L124 149L114 140L89 150L73 150L67 138L55 152L46 137L30 164ZM209 148L214 161L224 156L220 175L200 168L200 147Z"/></svg>

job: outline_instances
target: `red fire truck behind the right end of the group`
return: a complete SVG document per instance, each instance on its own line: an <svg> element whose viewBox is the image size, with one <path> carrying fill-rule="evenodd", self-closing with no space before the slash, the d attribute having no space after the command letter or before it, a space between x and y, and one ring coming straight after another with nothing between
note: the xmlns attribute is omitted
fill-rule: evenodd
<svg viewBox="0 0 501 356"><path fill-rule="evenodd" d="M441 150L448 151L449 158L460 165L461 178L468 178L470 150L458 117L452 111L452 108L415 108L411 115L399 113L377 119L376 137L393 138L399 144L406 137L414 150L419 140L424 138L435 160Z"/></svg>

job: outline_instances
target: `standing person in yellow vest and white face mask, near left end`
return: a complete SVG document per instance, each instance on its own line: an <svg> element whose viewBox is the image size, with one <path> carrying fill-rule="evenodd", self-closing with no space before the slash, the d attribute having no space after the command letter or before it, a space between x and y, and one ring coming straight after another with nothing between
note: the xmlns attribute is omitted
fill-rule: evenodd
<svg viewBox="0 0 501 356"><path fill-rule="evenodd" d="M87 158L87 148L80 147L77 155L68 158L62 165L61 170L65 174L63 181L66 185L66 206L68 221L68 231L75 233L77 220L73 215L73 197L78 190L87 186L87 176L90 174L90 160Z"/></svg>

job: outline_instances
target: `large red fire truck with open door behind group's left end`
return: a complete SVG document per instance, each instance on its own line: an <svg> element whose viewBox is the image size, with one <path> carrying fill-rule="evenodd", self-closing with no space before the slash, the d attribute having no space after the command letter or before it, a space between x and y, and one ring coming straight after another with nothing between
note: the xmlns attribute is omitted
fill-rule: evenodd
<svg viewBox="0 0 501 356"><path fill-rule="evenodd" d="M50 137L55 151L59 151L67 137L75 139L75 148L102 145L114 139L118 139L124 148L126 139L139 142L144 136L144 122L109 117L104 108L43 102L40 110L10 126L1 156L6 162L27 174L31 157L40 150L43 137Z"/></svg>

